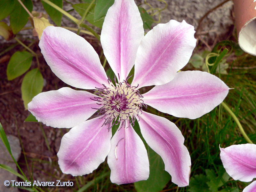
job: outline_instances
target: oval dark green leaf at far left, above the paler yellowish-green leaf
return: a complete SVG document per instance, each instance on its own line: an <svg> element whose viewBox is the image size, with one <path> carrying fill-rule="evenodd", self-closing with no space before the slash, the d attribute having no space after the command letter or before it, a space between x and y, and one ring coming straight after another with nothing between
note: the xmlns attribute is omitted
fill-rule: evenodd
<svg viewBox="0 0 256 192"><path fill-rule="evenodd" d="M29 52L15 52L7 65L7 79L10 81L24 74L31 66L33 55Z"/></svg>

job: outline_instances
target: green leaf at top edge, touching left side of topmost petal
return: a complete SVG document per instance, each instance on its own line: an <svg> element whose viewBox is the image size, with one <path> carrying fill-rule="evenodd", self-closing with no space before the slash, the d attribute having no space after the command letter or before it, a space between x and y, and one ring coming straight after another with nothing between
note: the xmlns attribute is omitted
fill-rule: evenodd
<svg viewBox="0 0 256 192"><path fill-rule="evenodd" d="M99 20L102 17L105 17L108 11L108 8L113 5L114 0L97 0L94 11L94 21Z"/></svg>

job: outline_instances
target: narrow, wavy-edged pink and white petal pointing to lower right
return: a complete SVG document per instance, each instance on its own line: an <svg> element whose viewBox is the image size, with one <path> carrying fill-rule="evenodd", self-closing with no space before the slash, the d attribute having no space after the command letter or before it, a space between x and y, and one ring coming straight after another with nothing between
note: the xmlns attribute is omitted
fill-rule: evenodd
<svg viewBox="0 0 256 192"><path fill-rule="evenodd" d="M145 111L139 115L143 138L164 161L164 169L179 187L188 186L191 160L179 128L164 117Z"/></svg>

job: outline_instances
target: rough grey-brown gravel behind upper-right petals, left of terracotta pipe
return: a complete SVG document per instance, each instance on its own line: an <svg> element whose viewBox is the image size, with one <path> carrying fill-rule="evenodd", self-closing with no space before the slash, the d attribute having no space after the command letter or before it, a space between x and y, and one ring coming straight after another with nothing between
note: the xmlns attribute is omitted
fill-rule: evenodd
<svg viewBox="0 0 256 192"><path fill-rule="evenodd" d="M137 2L144 2L140 0ZM156 0L148 0L149 4L153 7L164 7L164 3ZM182 21L186 20L187 23L197 27L198 21L203 15L222 3L223 0L166 0L167 8L161 12L161 22L166 23L171 19ZM145 9L149 6L143 5ZM211 30L214 32L224 32L226 28L233 24L231 17L231 10L233 9L233 1L228 1L220 8L214 10L205 19L203 30Z"/></svg>

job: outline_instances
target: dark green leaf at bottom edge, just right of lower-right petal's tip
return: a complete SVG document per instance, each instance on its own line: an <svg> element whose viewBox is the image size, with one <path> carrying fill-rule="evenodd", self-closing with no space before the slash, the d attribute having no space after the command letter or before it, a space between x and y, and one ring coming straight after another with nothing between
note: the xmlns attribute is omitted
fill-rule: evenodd
<svg viewBox="0 0 256 192"><path fill-rule="evenodd" d="M195 175L194 177L191 177L189 180L189 188L188 191L190 192L211 192L209 190L208 185L206 182L209 180L205 177L205 175Z"/></svg>

